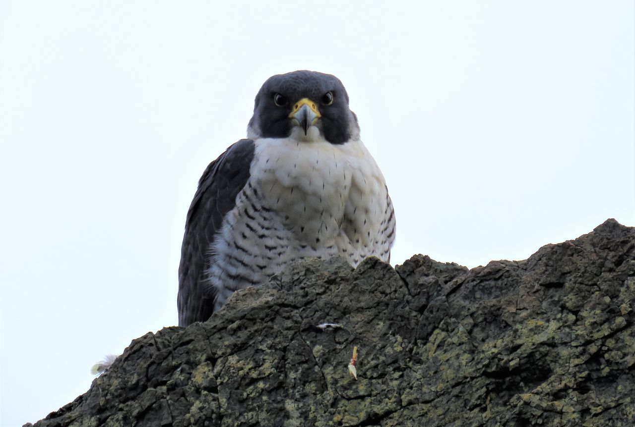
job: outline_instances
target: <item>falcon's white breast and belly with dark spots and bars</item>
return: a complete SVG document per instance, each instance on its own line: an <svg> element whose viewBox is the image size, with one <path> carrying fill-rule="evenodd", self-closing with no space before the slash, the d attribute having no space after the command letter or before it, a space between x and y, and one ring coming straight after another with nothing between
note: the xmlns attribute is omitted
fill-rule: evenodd
<svg viewBox="0 0 635 427"><path fill-rule="evenodd" d="M392 206L361 141L262 139L255 147L248 183L213 248L210 279L219 306L231 292L266 281L294 259L339 254L352 265L370 255L387 260L392 240L382 246L378 236Z"/></svg>

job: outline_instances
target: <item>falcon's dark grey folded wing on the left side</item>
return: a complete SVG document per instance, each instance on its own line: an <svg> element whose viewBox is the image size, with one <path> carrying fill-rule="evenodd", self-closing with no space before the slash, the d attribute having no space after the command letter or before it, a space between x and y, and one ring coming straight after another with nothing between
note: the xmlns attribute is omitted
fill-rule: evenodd
<svg viewBox="0 0 635 427"><path fill-rule="evenodd" d="M253 140L238 141L211 162L199 180L187 211L178 266L179 326L204 322L214 311L215 293L203 286L210 268L210 246L249 179L254 150Z"/></svg>

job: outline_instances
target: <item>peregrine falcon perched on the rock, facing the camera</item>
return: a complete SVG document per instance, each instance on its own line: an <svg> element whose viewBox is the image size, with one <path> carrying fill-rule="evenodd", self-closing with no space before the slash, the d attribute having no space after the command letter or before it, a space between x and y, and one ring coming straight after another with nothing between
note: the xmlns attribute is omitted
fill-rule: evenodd
<svg viewBox="0 0 635 427"><path fill-rule="evenodd" d="M390 261L395 214L342 82L298 70L264 82L247 138L205 169L187 211L178 324L204 322L238 289L292 261Z"/></svg>

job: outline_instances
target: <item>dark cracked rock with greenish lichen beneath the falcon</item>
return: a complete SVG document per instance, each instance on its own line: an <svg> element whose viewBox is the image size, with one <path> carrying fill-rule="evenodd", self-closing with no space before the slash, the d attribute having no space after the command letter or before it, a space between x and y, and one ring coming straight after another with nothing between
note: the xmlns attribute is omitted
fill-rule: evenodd
<svg viewBox="0 0 635 427"><path fill-rule="evenodd" d="M635 228L614 220L472 270L307 259L135 339L35 425L633 426L634 308Z"/></svg>

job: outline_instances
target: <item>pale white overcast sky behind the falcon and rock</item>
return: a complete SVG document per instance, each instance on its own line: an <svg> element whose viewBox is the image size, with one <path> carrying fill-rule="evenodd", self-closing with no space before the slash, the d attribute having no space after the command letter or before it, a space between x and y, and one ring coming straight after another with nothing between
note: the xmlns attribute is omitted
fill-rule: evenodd
<svg viewBox="0 0 635 427"><path fill-rule="evenodd" d="M0 426L177 323L185 213L272 74L340 77L392 261L635 225L632 1L0 0Z"/></svg>

